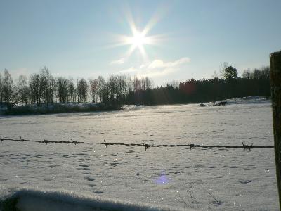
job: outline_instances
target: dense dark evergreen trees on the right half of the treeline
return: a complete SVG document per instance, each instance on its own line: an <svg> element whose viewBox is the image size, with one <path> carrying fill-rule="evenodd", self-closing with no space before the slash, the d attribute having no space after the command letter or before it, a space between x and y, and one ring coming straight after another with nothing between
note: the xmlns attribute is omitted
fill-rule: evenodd
<svg viewBox="0 0 281 211"><path fill-rule="evenodd" d="M244 96L270 96L269 67L244 70L237 77L232 66L223 69L222 77L188 79L154 89L135 89L124 98L125 104L159 105L174 103L202 103Z"/></svg>

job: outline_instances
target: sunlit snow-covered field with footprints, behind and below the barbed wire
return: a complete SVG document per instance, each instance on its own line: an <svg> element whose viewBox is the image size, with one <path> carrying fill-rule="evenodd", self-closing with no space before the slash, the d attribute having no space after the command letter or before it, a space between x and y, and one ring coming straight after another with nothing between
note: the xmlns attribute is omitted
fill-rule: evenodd
<svg viewBox="0 0 281 211"><path fill-rule="evenodd" d="M269 101L251 98L229 102L214 107L137 106L117 112L1 116L0 136L50 141L273 145ZM29 196L20 200L18 207L22 210L48 210L51 205L51 210L63 209L51 199L76 201L80 206L105 201L112 207L118 207L117 200L131 210L138 210L140 204L144 209L278 210L273 148L145 151L141 146L18 142L0 146L1 198L23 189L16 192ZM45 197L49 200L44 201Z"/></svg>

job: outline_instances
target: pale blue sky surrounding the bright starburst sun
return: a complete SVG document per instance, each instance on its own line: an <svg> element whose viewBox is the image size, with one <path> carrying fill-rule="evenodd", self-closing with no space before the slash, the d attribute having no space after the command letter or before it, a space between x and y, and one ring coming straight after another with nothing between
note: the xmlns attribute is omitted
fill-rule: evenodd
<svg viewBox="0 0 281 211"><path fill-rule="evenodd" d="M130 13L139 31L155 20L147 36L161 35L143 45L146 59L118 46L117 34L133 36ZM281 49L280 20L280 0L0 0L0 72L18 77L46 65L55 76L130 73L161 85L211 78L227 62L241 75Z"/></svg>

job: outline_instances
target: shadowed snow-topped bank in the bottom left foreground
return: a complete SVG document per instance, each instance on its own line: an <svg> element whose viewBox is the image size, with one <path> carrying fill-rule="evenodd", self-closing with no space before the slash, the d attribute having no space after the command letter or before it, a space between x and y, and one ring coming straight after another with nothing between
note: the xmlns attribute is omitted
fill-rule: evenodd
<svg viewBox="0 0 281 211"><path fill-rule="evenodd" d="M47 211L47 210L172 210L169 207L151 207L119 200L105 200L98 197L78 196L72 192L37 191L22 189L0 201L1 210Z"/></svg>

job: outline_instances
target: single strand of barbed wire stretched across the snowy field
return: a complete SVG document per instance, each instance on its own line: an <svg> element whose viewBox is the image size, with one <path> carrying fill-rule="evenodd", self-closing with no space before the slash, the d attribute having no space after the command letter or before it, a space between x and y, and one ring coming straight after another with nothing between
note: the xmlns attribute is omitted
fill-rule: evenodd
<svg viewBox="0 0 281 211"><path fill-rule="evenodd" d="M193 143L187 143L187 144L148 144L148 143L115 143L115 142L106 142L105 140L103 142L89 142L89 141L49 141L44 139L44 141L39 140L30 140L30 139L9 139L9 138L1 138L1 142L3 141L18 141L18 142L35 142L35 143L72 143L74 145L77 144L100 144L107 146L113 146L113 145L119 145L119 146L143 146L145 147L145 151L148 148L152 147L189 147L190 150L192 148L244 148L244 150L251 151L251 148L274 148L274 146L254 146L253 143L251 145L244 144L242 142L242 146L230 146L230 145L200 145L200 144L193 144Z"/></svg>

